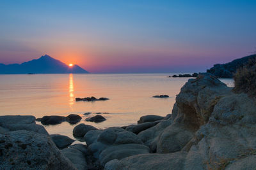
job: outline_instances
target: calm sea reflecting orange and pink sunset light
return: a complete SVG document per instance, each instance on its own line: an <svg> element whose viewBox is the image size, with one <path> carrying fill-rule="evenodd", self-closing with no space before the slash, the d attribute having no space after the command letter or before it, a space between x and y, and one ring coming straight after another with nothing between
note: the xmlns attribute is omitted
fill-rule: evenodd
<svg viewBox="0 0 256 170"><path fill-rule="evenodd" d="M80 123L97 128L136 124L143 115L171 113L175 96L188 78L168 78L173 74L3 74L0 75L0 115L83 117ZM232 79L221 80L233 86ZM167 94L170 98L152 96ZM76 102L76 97L108 97L109 101ZM92 112L91 115L83 113ZM95 124L86 117L107 112L106 121ZM40 123L38 123L40 124ZM63 122L47 125L50 134L73 138L76 125Z"/></svg>

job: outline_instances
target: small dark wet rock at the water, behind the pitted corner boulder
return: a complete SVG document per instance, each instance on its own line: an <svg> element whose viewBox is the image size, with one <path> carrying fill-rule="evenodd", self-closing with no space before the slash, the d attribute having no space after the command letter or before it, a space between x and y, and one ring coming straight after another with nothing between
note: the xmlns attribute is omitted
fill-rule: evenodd
<svg viewBox="0 0 256 170"><path fill-rule="evenodd" d="M68 138L68 136L60 134L51 134L50 136L55 145L60 149L67 148L67 146L71 145L75 141L74 139Z"/></svg>

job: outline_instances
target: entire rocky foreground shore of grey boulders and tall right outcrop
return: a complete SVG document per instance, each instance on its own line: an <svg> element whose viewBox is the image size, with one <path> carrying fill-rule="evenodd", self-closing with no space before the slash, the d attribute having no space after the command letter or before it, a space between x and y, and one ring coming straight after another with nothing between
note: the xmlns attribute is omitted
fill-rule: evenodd
<svg viewBox="0 0 256 170"><path fill-rule="evenodd" d="M256 169L255 123L255 99L200 73L172 114L126 127L79 124L73 134L84 144L50 136L33 116L2 116L0 169Z"/></svg>

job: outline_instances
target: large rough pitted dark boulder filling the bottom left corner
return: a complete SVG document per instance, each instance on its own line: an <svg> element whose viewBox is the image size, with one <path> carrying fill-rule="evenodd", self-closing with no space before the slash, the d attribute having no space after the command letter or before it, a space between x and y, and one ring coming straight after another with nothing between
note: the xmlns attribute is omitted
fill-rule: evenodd
<svg viewBox="0 0 256 170"><path fill-rule="evenodd" d="M11 131L0 141L0 169L76 169L47 135Z"/></svg>

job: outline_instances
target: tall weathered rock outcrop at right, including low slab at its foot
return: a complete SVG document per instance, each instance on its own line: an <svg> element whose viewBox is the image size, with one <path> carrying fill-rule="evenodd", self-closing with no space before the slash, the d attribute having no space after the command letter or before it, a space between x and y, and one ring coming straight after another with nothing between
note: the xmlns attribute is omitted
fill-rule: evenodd
<svg viewBox="0 0 256 170"><path fill-rule="evenodd" d="M212 74L180 90L172 117L138 134L151 152L105 169L255 169L256 103Z"/></svg>

